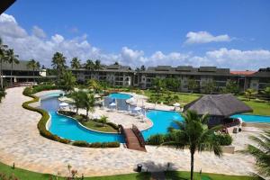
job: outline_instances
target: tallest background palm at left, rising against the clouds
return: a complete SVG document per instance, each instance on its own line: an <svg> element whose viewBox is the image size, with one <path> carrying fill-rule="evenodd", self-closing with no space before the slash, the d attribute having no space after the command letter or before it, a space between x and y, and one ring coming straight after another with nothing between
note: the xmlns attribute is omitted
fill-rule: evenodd
<svg viewBox="0 0 270 180"><path fill-rule="evenodd" d="M60 53L56 52L51 61L51 66L58 71L58 83L60 76L62 75L63 71L66 69L66 57Z"/></svg>

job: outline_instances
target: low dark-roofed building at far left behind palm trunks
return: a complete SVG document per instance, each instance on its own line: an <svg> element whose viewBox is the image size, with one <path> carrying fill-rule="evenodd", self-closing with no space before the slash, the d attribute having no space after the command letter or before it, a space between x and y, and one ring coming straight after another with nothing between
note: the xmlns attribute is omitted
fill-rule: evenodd
<svg viewBox="0 0 270 180"><path fill-rule="evenodd" d="M3 78L4 81L12 80L14 83L32 82L33 78L46 76L46 69L31 69L27 67L29 61L20 60L19 64L10 64L3 62Z"/></svg>

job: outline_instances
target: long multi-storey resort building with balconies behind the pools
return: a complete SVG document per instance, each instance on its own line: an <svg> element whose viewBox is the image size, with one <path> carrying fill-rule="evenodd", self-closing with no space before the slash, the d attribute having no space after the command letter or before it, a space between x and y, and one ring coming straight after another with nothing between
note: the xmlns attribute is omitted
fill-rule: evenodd
<svg viewBox="0 0 270 180"><path fill-rule="evenodd" d="M260 68L258 71L230 71L229 68L191 67L191 66L157 66L146 70L132 70L121 65L103 66L102 69L89 70L84 67L72 69L78 81L94 78L107 81L112 85L136 86L142 89L150 88L155 77L176 78L181 81L179 90L188 92L188 81L197 83L196 91L201 92L203 85L214 82L216 90L224 87L228 80L238 83L240 91L247 88L263 90L270 83L270 68Z"/></svg>

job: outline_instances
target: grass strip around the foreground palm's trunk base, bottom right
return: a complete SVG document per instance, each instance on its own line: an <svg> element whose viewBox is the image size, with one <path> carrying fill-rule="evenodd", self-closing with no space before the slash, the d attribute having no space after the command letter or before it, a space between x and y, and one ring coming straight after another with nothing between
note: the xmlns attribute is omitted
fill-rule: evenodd
<svg viewBox="0 0 270 180"><path fill-rule="evenodd" d="M188 180L190 178L190 172L186 171L169 171L166 172L166 179L179 179ZM194 173L194 180L248 180L252 179L250 176L246 175L221 175L221 174L211 174L202 173L202 178L199 173Z"/></svg>

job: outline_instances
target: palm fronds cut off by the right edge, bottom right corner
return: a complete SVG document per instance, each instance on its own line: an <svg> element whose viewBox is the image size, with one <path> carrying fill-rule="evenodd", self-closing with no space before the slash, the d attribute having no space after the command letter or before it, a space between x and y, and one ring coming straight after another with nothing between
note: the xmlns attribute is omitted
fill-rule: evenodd
<svg viewBox="0 0 270 180"><path fill-rule="evenodd" d="M251 154L257 159L258 173L260 175L254 174L257 179L265 179L265 177L270 177L270 130L264 131L259 137L251 136L256 146L248 145L247 149L243 152Z"/></svg>

